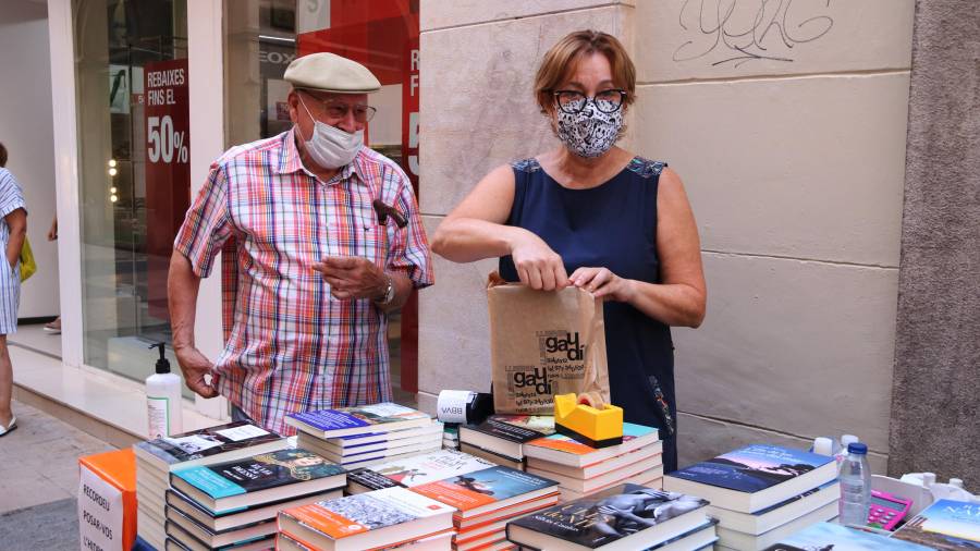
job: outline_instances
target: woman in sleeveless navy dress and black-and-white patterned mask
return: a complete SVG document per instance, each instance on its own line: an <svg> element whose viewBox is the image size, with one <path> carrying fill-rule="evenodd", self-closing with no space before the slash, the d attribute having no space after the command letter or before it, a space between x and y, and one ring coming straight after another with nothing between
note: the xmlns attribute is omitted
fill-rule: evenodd
<svg viewBox="0 0 980 551"><path fill-rule="evenodd" d="M666 163L615 145L636 71L614 37L572 33L535 78L561 146L490 172L439 225L432 250L456 262L500 257L532 289L567 285L604 298L612 403L660 429L676 469L671 326L698 327L707 289L694 215Z"/></svg>

